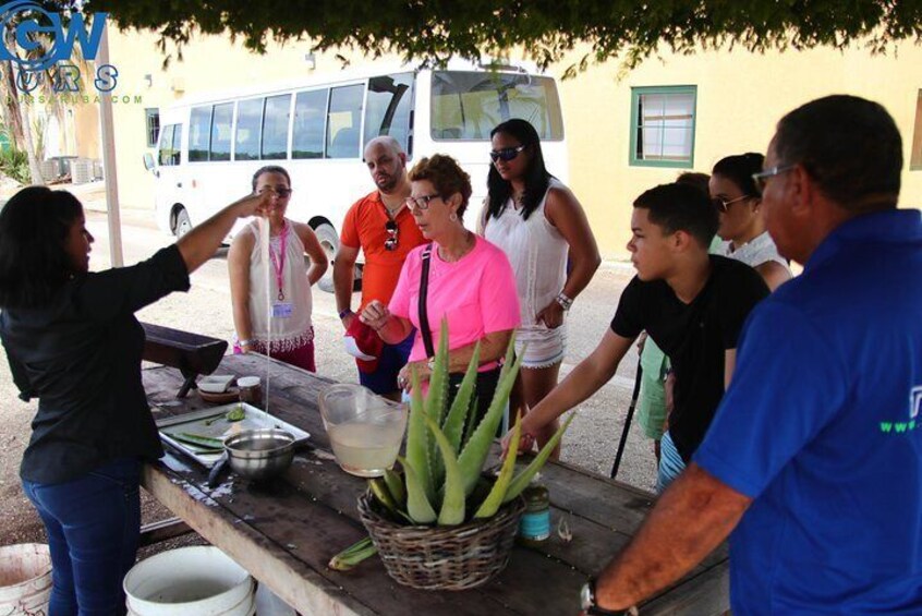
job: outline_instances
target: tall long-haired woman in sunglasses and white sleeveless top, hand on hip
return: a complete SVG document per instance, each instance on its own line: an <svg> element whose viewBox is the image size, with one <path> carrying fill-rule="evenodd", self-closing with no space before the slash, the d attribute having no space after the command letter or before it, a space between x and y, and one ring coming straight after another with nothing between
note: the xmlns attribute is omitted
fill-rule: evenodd
<svg viewBox="0 0 922 616"><path fill-rule="evenodd" d="M567 337L563 315L602 259L580 202L545 168L534 126L508 120L493 130L490 141L481 234L502 249L515 273L522 311L515 351L524 352L520 402L529 409L557 385ZM545 426L538 444L556 428Z"/></svg>

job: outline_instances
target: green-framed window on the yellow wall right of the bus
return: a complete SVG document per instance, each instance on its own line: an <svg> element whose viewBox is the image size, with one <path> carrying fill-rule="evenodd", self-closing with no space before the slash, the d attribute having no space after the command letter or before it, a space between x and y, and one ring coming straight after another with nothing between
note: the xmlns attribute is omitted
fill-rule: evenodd
<svg viewBox="0 0 922 616"><path fill-rule="evenodd" d="M631 88L631 165L694 166L697 86Z"/></svg>

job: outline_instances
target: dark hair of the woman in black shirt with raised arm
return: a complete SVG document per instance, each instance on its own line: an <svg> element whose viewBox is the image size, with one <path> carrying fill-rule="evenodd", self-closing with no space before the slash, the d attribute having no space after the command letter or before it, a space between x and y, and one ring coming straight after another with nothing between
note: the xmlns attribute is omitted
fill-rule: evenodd
<svg viewBox="0 0 922 616"><path fill-rule="evenodd" d="M66 191L28 186L0 212L0 307L46 305L73 275L64 247L83 205Z"/></svg>

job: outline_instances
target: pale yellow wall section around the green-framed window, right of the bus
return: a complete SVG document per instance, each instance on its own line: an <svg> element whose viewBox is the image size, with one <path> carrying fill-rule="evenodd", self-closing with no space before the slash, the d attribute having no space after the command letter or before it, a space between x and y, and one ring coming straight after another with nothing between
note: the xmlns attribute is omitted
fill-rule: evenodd
<svg viewBox="0 0 922 616"><path fill-rule="evenodd" d="M566 65L566 63L563 63ZM570 148L570 183L585 207L604 256L626 258L633 200L686 169L630 166L631 88L697 86L694 165L709 172L724 156L764 153L776 122L796 107L829 94L876 100L902 133L906 164L901 204L922 202L922 170L910 171L922 47L870 56L863 49L750 53L744 50L666 53L622 80L618 63L591 68L561 82Z"/></svg>

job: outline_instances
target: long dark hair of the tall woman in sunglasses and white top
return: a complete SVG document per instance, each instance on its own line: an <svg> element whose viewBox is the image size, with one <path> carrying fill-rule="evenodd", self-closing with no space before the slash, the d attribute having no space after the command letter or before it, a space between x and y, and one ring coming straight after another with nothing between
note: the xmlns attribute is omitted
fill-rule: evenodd
<svg viewBox="0 0 922 616"><path fill-rule="evenodd" d="M496 133L504 133L515 138L521 145L525 146L525 152L532 155L529 166L525 168L525 192L522 195L522 219L527 220L529 216L537 209L541 200L544 198L544 193L547 192L551 178L544 165L541 137L530 122L519 118L497 124L489 133L490 138ZM499 171L496 170L496 165L489 166L487 191L489 192L487 218L499 218L502 210L506 209L509 197L512 196L512 184L502 179Z"/></svg>

